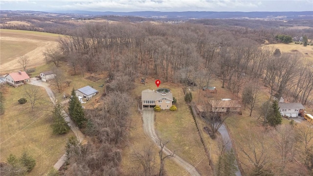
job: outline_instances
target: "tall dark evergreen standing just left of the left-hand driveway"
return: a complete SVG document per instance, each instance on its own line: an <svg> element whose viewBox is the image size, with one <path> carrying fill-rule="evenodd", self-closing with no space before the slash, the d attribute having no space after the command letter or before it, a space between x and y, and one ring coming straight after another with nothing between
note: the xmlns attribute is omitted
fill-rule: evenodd
<svg viewBox="0 0 313 176"><path fill-rule="evenodd" d="M54 134L65 134L69 131L69 127L62 112L62 104L56 102L52 111L53 124L51 125Z"/></svg>

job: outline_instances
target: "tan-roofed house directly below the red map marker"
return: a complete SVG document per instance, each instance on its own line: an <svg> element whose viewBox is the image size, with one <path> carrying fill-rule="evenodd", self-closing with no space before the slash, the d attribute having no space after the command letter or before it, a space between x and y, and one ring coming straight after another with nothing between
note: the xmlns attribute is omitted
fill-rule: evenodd
<svg viewBox="0 0 313 176"><path fill-rule="evenodd" d="M169 110L173 103L173 94L171 92L156 92L150 89L142 90L141 103L142 109L150 109L158 105L162 110Z"/></svg>

